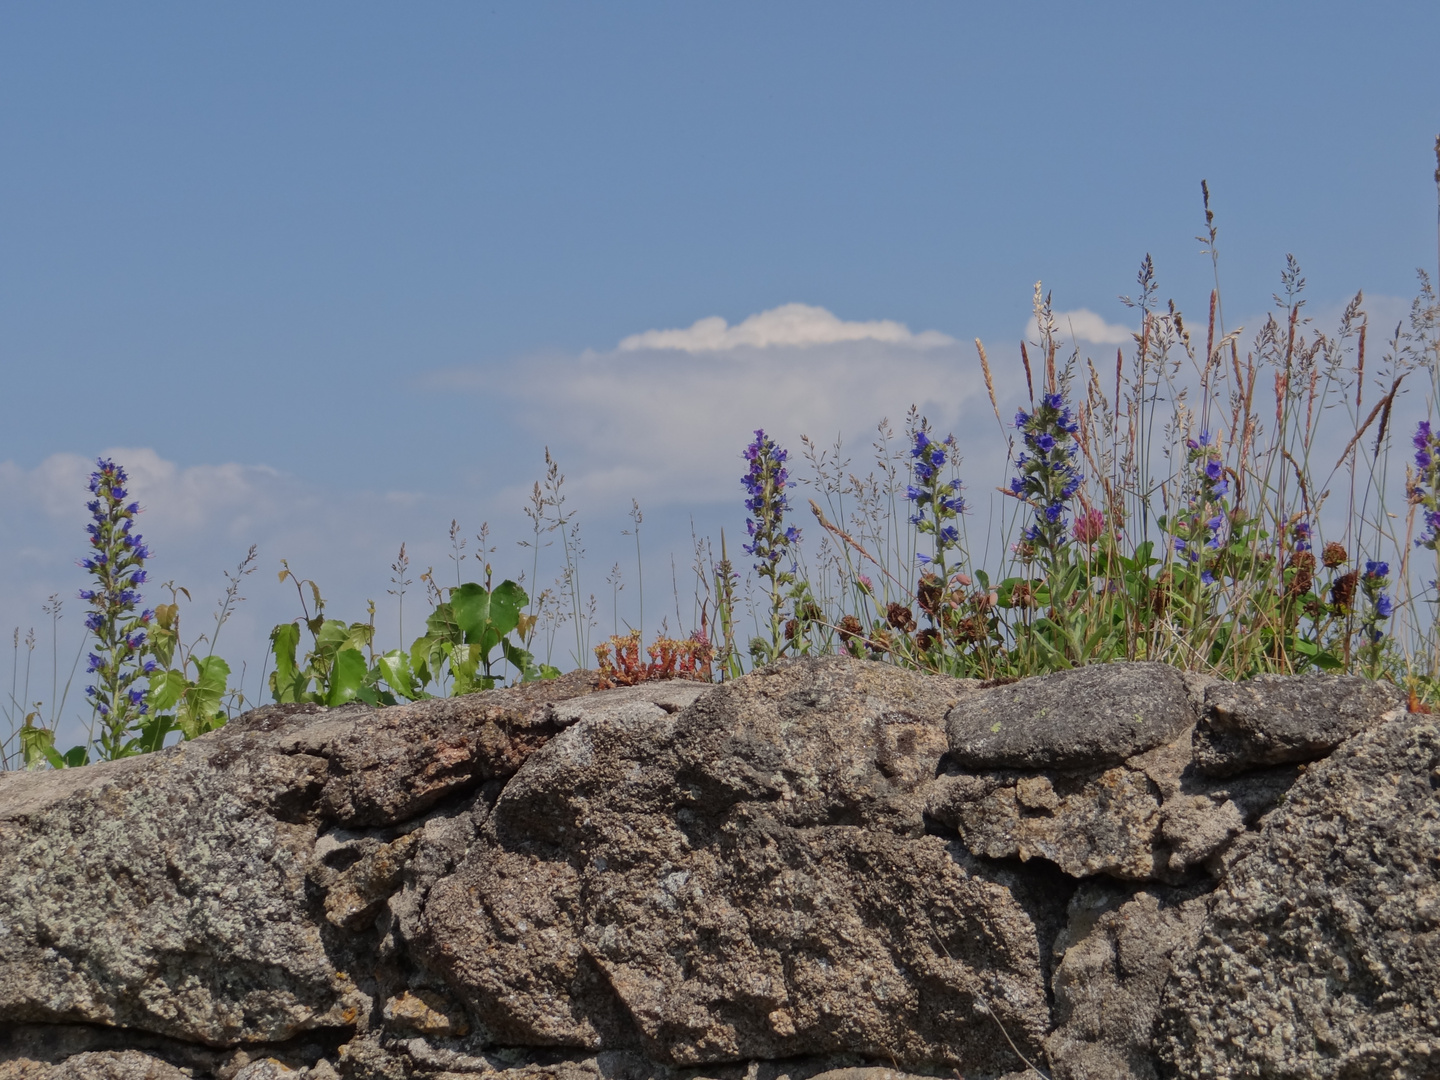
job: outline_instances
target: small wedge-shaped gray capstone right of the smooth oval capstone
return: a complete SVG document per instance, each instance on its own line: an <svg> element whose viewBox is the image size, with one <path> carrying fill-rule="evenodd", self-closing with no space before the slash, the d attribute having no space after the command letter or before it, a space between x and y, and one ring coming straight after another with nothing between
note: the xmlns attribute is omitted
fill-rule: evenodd
<svg viewBox="0 0 1440 1080"><path fill-rule="evenodd" d="M1358 675L1256 675L1205 691L1195 765L1211 776L1325 757L1387 713L1404 708L1388 683Z"/></svg>

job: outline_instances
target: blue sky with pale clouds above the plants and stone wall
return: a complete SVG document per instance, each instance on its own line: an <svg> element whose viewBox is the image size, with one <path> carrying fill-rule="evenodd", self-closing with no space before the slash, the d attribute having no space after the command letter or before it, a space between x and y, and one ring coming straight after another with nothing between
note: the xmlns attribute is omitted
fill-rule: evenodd
<svg viewBox="0 0 1440 1080"><path fill-rule="evenodd" d="M1436 40L1420 3L4 4L3 622L81 585L107 449L157 580L217 593L261 544L251 660L281 557L351 616L452 517L517 572L546 445L593 586L631 498L688 562L691 518L740 526L755 426L988 416L969 343L1012 356L1037 279L1126 327L1151 252L1201 318L1202 177L1236 321L1287 252L1312 310L1400 311L1436 264ZM786 304L840 328L618 350Z"/></svg>

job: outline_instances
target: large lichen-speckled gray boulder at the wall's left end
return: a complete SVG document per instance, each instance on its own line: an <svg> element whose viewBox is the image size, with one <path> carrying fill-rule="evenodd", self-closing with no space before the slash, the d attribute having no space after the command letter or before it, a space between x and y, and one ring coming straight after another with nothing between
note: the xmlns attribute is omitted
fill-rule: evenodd
<svg viewBox="0 0 1440 1080"><path fill-rule="evenodd" d="M367 1007L307 914L315 827L256 814L265 763L219 776L207 749L89 766L19 819L0 788L0 1015L225 1044Z"/></svg>

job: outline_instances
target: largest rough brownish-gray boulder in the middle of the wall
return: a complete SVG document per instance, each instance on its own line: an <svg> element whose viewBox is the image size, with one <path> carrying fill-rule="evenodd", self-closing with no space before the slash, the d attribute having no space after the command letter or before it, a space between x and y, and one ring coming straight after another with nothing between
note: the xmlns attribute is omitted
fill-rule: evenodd
<svg viewBox="0 0 1440 1080"><path fill-rule="evenodd" d="M413 955L503 1044L1009 1071L999 1025L1031 1054L1048 1025L1034 920L924 835L962 693L831 658L588 716L429 890Z"/></svg>

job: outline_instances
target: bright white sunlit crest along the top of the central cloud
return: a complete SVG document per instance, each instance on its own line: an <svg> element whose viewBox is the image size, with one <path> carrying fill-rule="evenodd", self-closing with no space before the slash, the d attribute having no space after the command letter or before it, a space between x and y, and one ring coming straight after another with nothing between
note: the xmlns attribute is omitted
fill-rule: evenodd
<svg viewBox="0 0 1440 1080"><path fill-rule="evenodd" d="M647 330L619 343L618 351L674 348L684 353L719 353L732 348L829 346L841 341L883 341L913 348L952 346L955 338L937 330L912 333L904 323L873 320L847 323L821 307L782 304L729 325L720 315L693 323L685 330Z"/></svg>

